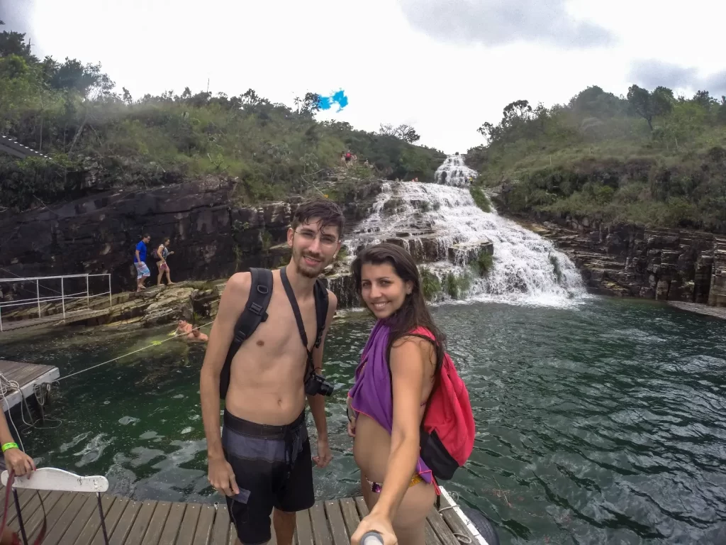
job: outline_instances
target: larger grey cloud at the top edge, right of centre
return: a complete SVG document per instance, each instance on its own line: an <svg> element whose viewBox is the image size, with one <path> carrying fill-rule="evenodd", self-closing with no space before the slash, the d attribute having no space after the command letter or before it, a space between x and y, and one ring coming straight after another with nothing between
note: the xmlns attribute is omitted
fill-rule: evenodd
<svg viewBox="0 0 726 545"><path fill-rule="evenodd" d="M614 39L603 27L574 20L566 0L399 0L414 28L444 41L503 45L544 41L566 49Z"/></svg>

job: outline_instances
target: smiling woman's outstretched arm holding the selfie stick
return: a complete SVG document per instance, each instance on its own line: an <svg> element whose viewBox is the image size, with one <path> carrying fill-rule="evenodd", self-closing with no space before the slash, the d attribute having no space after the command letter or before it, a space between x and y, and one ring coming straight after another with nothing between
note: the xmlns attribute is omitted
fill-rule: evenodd
<svg viewBox="0 0 726 545"><path fill-rule="evenodd" d="M420 403L424 377L431 357L431 344L417 337L404 337L391 347L391 379L393 383L393 428L391 452L380 492L370 514L365 517L351 543L359 544L364 533L375 530L384 544L396 543L391 520L408 490L419 456Z"/></svg>

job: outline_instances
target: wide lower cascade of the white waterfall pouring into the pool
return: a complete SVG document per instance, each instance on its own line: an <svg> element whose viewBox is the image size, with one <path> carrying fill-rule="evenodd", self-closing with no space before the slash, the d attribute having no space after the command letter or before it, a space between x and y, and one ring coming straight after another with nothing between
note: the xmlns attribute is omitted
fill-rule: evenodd
<svg viewBox="0 0 726 545"><path fill-rule="evenodd" d="M447 259L452 245L487 239L494 245L494 259L484 277ZM586 293L566 254L496 211L481 211L468 188L387 182L373 213L354 229L345 244L352 259L362 246L386 240L404 246L420 268L442 281L452 274L469 278L463 299L564 304Z"/></svg>

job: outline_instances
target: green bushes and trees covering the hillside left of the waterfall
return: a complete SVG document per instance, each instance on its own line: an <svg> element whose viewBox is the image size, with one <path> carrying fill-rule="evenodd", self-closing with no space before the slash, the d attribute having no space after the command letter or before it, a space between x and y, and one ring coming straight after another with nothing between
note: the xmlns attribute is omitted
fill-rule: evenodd
<svg viewBox="0 0 726 545"><path fill-rule="evenodd" d="M444 154L412 145L415 132L356 131L318 122L316 94L293 108L253 89L173 91L131 97L100 64L38 60L19 33L0 33L0 134L51 157L0 156L0 206L29 206L76 198L110 187L153 187L216 174L236 178L233 199L256 203L314 192L350 149L390 179L433 179ZM96 171L94 187L83 173ZM351 175L373 176L356 166ZM317 192L314 192L317 193ZM342 199L336 190L330 198Z"/></svg>

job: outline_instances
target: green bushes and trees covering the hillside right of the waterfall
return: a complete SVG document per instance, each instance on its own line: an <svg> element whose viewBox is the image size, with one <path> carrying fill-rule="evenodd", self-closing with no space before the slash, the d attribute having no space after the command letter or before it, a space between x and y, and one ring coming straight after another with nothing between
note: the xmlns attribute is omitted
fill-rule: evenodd
<svg viewBox="0 0 726 545"><path fill-rule="evenodd" d="M726 97L593 86L566 105L507 105L468 150L505 206L726 233ZM474 194L472 194L474 196Z"/></svg>

